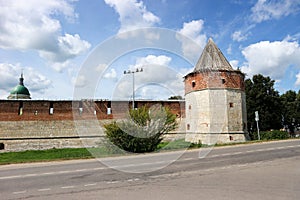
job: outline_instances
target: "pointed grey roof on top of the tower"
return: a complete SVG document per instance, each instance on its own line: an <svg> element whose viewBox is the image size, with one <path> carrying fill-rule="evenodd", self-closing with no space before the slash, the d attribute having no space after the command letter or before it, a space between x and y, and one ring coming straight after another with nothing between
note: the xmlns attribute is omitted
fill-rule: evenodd
<svg viewBox="0 0 300 200"><path fill-rule="evenodd" d="M194 72L205 70L234 71L228 60L211 38L209 38L194 68Z"/></svg>

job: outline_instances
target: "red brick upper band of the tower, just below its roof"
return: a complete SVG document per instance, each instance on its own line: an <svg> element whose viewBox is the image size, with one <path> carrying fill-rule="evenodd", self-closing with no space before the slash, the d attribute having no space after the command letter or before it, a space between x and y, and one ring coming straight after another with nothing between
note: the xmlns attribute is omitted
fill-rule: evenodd
<svg viewBox="0 0 300 200"><path fill-rule="evenodd" d="M240 71L193 72L185 77L185 94L208 88L245 90L244 74Z"/></svg>

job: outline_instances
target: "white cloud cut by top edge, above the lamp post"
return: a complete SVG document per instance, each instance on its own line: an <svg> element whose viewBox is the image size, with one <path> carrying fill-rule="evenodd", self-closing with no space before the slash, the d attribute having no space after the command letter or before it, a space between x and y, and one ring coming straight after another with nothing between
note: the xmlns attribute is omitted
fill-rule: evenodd
<svg viewBox="0 0 300 200"><path fill-rule="evenodd" d="M138 0L104 0L119 14L121 23L119 33L137 28L152 27L160 22L159 17L149 12L143 1Z"/></svg>

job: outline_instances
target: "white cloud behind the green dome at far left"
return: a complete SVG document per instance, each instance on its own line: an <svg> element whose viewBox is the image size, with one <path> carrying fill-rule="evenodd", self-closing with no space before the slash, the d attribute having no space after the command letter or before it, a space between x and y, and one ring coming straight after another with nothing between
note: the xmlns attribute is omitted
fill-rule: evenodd
<svg viewBox="0 0 300 200"><path fill-rule="evenodd" d="M24 69L24 70L23 70ZM24 85L29 89L31 96L42 96L52 87L52 82L44 75L31 67L21 67L8 63L0 63L0 98L6 98L9 92L19 83L20 74L24 71Z"/></svg>

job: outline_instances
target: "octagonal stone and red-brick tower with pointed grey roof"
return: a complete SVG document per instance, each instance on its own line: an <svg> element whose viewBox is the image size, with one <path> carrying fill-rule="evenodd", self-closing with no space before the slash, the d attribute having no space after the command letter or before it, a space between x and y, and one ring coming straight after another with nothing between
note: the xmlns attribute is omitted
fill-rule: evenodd
<svg viewBox="0 0 300 200"><path fill-rule="evenodd" d="M248 138L244 78L210 38L194 71L184 77L186 141L215 144Z"/></svg>

